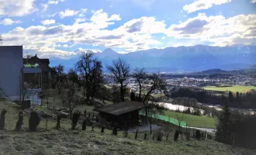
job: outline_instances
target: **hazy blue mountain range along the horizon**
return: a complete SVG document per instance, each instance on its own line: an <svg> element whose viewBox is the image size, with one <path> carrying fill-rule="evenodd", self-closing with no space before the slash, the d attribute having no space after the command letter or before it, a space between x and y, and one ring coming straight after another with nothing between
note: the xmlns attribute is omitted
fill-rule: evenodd
<svg viewBox="0 0 256 155"><path fill-rule="evenodd" d="M117 53L106 49L95 53L95 57L106 64L120 57L130 64L131 68L144 67L146 71L184 72L204 71L213 68L222 70L244 69L256 64L256 46L211 47L195 45L193 47L167 47L164 49L140 50L131 53ZM79 56L64 60L50 58L50 65L64 64L74 67ZM104 70L106 71L106 70Z"/></svg>

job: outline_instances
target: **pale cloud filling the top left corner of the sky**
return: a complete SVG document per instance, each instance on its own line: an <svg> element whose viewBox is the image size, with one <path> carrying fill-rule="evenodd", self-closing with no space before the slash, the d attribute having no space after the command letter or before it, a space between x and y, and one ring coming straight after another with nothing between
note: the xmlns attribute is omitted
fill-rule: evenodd
<svg viewBox="0 0 256 155"><path fill-rule="evenodd" d="M0 0L0 15L22 16L36 11L34 0Z"/></svg>

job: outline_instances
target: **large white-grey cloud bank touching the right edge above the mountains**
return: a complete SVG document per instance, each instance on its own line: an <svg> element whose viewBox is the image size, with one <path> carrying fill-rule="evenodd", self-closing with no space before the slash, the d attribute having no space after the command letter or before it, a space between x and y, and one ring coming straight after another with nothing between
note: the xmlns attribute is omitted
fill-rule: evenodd
<svg viewBox="0 0 256 155"><path fill-rule="evenodd" d="M215 46L234 43L250 44L256 39L256 15L236 15L226 19L223 15L206 16L199 13L168 28L167 35L175 39L192 39L213 42Z"/></svg>

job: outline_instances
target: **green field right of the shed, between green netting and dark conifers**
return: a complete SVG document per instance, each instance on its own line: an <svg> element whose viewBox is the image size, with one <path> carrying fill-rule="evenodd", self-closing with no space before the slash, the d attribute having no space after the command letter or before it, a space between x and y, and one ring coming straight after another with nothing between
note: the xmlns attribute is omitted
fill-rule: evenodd
<svg viewBox="0 0 256 155"><path fill-rule="evenodd" d="M187 122L189 126L192 127L198 127L198 128L211 128L215 129L216 126L216 119L209 118L209 117L203 117L199 115L189 115L189 114L183 114L180 112L171 112L171 111L164 111L164 115L170 116L171 118L177 119L177 115L180 117L184 115L183 121Z"/></svg>

